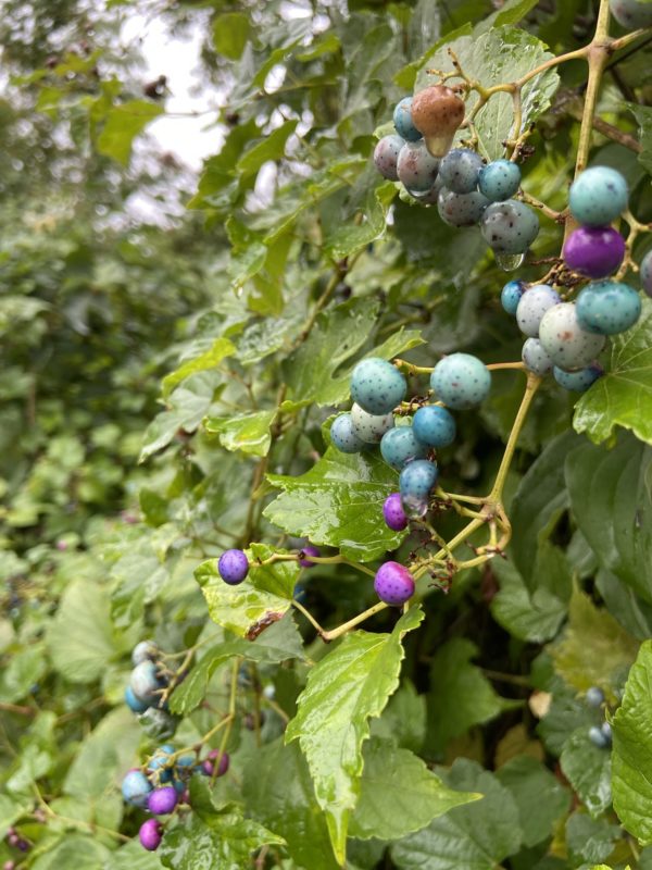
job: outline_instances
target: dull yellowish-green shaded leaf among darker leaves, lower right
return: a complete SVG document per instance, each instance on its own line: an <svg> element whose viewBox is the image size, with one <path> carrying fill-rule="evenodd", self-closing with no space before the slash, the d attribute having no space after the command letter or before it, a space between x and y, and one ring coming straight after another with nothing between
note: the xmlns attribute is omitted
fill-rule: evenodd
<svg viewBox="0 0 652 870"><path fill-rule="evenodd" d="M555 671L578 692L600 686L613 696L614 686L636 658L638 643L606 610L597 608L588 595L575 589L568 625L552 648Z"/></svg>

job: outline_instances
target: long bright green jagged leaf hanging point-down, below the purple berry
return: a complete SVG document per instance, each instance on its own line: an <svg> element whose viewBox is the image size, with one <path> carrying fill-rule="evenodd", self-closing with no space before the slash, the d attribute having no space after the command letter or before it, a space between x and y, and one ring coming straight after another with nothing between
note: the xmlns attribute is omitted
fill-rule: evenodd
<svg viewBox="0 0 652 870"><path fill-rule="evenodd" d="M396 692L404 656L402 637L422 619L421 608L412 608L391 634L348 634L310 672L297 716L288 724L286 742L299 739L340 862L360 792L368 720L380 716Z"/></svg>

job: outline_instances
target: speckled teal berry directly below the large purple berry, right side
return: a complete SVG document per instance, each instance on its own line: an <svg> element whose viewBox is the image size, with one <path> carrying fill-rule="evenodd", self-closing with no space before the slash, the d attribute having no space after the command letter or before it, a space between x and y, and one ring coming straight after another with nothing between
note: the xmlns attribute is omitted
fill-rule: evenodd
<svg viewBox="0 0 652 870"><path fill-rule="evenodd" d="M619 281L594 281L577 297L577 320L582 328L600 335L629 330L641 315L641 297Z"/></svg>

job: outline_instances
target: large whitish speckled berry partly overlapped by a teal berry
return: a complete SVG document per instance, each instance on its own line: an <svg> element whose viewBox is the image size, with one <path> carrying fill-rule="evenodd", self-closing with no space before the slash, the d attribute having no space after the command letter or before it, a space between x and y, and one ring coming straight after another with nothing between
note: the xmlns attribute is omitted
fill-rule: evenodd
<svg viewBox="0 0 652 870"><path fill-rule="evenodd" d="M584 330L573 302L560 302L543 314L539 340L554 363L566 372L585 369L604 347L604 336Z"/></svg>

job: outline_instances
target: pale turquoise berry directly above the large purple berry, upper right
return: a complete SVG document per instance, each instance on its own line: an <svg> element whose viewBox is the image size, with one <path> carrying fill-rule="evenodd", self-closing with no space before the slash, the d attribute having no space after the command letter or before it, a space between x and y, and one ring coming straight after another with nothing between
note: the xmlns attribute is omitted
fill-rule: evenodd
<svg viewBox="0 0 652 870"><path fill-rule="evenodd" d="M627 182L609 166L591 166L570 185L568 204L578 223L606 226L627 208Z"/></svg>

